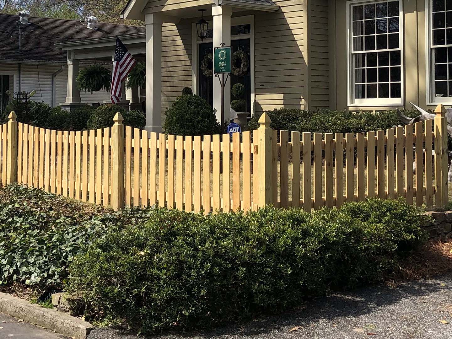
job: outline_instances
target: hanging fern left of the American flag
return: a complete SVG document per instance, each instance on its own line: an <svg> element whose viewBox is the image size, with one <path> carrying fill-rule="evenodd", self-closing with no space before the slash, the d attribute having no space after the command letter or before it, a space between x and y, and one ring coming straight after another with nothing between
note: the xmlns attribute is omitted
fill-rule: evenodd
<svg viewBox="0 0 452 339"><path fill-rule="evenodd" d="M77 87L86 92L110 90L112 81L112 72L100 64L94 64L83 68L77 75Z"/></svg>

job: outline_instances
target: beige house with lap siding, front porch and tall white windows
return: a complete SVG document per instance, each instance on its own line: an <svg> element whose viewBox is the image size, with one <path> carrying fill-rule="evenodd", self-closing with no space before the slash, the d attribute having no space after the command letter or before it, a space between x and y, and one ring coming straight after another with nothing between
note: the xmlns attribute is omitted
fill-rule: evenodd
<svg viewBox="0 0 452 339"><path fill-rule="evenodd" d="M202 40L201 15L209 23ZM149 130L160 131L185 86L221 111L207 65L220 43L245 52L248 65L226 84L225 112L235 83L250 114L452 104L452 0L130 0L122 17L146 26L121 39L146 59ZM112 55L114 40L61 47L81 60Z"/></svg>

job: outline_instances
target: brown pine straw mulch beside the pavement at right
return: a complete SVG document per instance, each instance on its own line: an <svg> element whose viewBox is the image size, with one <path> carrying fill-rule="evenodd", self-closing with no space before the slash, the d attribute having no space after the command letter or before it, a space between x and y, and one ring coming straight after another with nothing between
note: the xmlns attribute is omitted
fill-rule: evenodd
<svg viewBox="0 0 452 339"><path fill-rule="evenodd" d="M433 278L452 272L452 239L429 240L405 259L397 272L386 278L386 284L396 286L410 279Z"/></svg>

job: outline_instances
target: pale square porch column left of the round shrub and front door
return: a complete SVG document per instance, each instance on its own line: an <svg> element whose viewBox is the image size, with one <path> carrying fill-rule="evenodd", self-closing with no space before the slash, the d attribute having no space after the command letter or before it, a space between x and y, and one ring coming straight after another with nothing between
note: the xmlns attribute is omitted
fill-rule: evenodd
<svg viewBox="0 0 452 339"><path fill-rule="evenodd" d="M146 14L146 130L161 132L162 18Z"/></svg>

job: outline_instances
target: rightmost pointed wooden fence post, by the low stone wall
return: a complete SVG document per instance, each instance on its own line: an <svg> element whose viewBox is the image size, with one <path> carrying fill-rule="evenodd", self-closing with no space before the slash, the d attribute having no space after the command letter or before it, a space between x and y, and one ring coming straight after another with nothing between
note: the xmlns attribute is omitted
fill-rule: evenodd
<svg viewBox="0 0 452 339"><path fill-rule="evenodd" d="M435 205L444 207L448 202L447 187L447 119L446 108L439 104L435 108Z"/></svg>

